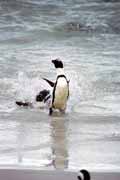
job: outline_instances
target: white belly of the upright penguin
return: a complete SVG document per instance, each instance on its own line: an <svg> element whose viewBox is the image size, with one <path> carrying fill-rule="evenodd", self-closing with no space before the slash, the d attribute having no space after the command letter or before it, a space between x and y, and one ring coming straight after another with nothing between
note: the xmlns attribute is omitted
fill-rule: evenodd
<svg viewBox="0 0 120 180"><path fill-rule="evenodd" d="M56 109L64 110L68 99L68 84L65 78L60 78L57 82L53 107Z"/></svg>

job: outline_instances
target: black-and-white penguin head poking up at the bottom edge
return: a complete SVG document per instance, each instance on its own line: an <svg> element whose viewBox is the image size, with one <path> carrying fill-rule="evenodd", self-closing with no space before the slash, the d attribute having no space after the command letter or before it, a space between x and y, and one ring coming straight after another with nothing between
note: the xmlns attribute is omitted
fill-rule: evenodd
<svg viewBox="0 0 120 180"><path fill-rule="evenodd" d="M90 173L85 170L85 169L82 169L79 171L79 174L77 176L78 180L90 180Z"/></svg>

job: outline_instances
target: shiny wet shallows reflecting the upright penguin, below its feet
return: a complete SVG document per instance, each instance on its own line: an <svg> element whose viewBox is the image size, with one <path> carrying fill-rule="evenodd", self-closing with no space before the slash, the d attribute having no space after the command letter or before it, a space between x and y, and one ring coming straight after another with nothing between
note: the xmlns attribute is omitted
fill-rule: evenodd
<svg viewBox="0 0 120 180"><path fill-rule="evenodd" d="M119 117L77 113L49 117L47 112L18 108L3 116L0 126L0 169L120 170Z"/></svg>

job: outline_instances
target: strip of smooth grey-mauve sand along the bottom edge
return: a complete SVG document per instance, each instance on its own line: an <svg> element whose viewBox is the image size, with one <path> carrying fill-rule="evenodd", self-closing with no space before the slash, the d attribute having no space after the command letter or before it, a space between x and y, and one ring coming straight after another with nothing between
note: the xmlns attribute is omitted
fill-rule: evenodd
<svg viewBox="0 0 120 180"><path fill-rule="evenodd" d="M91 180L119 180L120 172L91 172ZM1 180L76 180L77 172L0 169Z"/></svg>

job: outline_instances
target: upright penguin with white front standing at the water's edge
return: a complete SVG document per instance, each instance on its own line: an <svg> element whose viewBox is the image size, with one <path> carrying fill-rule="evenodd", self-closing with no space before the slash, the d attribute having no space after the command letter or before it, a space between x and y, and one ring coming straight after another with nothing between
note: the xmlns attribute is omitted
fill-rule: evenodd
<svg viewBox="0 0 120 180"><path fill-rule="evenodd" d="M69 97L69 81L64 73L63 62L60 59L52 60L56 71L57 78L54 83L52 92L51 107L49 108L49 115L52 115L53 109L58 109L65 112L67 100Z"/></svg>

